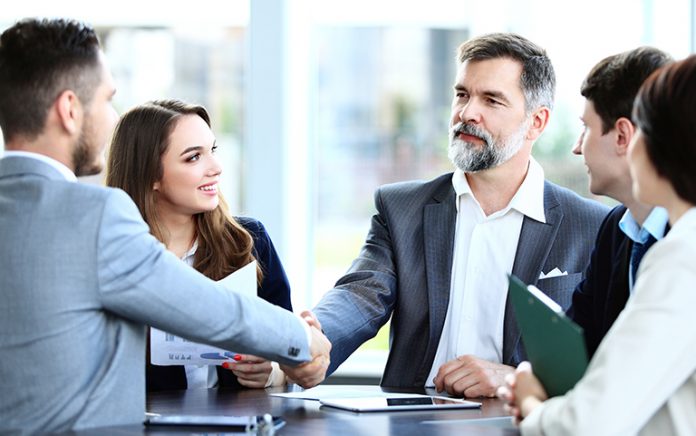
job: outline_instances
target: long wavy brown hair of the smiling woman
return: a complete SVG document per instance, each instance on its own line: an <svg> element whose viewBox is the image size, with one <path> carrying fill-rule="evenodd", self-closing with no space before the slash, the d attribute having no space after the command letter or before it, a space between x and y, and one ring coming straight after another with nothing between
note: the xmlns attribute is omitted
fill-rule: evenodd
<svg viewBox="0 0 696 436"><path fill-rule="evenodd" d="M210 116L203 106L179 100L158 100L126 112L119 120L106 167L106 184L123 189L140 210L150 233L167 244L168 235L158 216L155 182L162 179L162 156L169 147L177 121L197 115L210 126ZM212 211L194 215L198 248L193 267L205 276L220 280L255 259L254 240L232 217L220 193L220 202ZM257 265L257 280L263 278Z"/></svg>

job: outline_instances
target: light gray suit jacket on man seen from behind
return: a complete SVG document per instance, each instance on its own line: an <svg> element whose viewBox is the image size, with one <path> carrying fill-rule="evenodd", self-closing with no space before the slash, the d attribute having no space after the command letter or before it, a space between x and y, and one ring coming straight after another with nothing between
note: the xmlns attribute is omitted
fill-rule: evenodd
<svg viewBox="0 0 696 436"><path fill-rule="evenodd" d="M0 159L0 241L0 433L142 422L146 324L287 364L310 358L295 315L181 262L123 191Z"/></svg>

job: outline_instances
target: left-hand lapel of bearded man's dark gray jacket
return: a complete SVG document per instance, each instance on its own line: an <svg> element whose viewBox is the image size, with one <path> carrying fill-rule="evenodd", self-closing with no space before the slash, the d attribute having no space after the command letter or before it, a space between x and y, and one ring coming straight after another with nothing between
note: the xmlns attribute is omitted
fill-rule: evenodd
<svg viewBox="0 0 696 436"><path fill-rule="evenodd" d="M423 210L423 246L429 309L428 348L417 376L418 379L422 378L423 382L430 373L435 359L449 305L457 219L455 197L451 178L447 178L433 196L434 201L425 205Z"/></svg>

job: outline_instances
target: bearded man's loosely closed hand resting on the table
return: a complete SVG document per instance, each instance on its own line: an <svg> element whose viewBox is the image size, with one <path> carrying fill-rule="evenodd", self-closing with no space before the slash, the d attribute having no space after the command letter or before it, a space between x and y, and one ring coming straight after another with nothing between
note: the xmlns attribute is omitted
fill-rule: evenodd
<svg viewBox="0 0 696 436"><path fill-rule="evenodd" d="M459 356L440 367L434 380L435 388L453 396L494 397L505 382L505 375L514 370L511 366L474 356Z"/></svg>

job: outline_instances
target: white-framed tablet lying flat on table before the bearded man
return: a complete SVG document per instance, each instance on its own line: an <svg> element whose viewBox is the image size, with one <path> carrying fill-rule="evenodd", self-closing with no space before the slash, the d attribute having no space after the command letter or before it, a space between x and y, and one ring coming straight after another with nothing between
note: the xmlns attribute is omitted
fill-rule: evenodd
<svg viewBox="0 0 696 436"><path fill-rule="evenodd" d="M356 398L323 398L320 399L319 402L323 406L350 410L352 412L475 409L481 407L481 403L477 403L475 401L416 394L395 397L365 396Z"/></svg>

